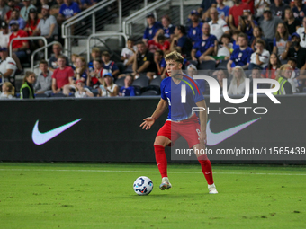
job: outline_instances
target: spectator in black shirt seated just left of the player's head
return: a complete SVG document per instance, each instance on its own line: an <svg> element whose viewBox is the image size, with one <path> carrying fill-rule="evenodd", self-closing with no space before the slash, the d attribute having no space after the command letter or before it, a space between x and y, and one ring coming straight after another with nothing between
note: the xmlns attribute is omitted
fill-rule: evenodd
<svg viewBox="0 0 306 229"><path fill-rule="evenodd" d="M137 49L133 61L133 75L147 75L148 72L155 72L154 55L148 51L146 44L139 42Z"/></svg>

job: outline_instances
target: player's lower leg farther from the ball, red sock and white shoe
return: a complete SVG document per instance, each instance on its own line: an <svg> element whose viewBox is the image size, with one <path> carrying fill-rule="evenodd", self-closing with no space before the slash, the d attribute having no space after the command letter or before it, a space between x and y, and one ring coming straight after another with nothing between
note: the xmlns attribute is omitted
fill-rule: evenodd
<svg viewBox="0 0 306 229"><path fill-rule="evenodd" d="M193 150L194 150L194 152L201 152L200 151L201 150L200 144L193 145ZM205 150L205 148L204 148L204 150ZM202 151L202 152L204 152L204 151ZM197 157L199 163L201 163L202 173L204 174L205 179L207 181L209 193L210 194L217 194L218 191L216 189L216 186L213 182L213 177L212 177L211 161L208 159L206 154L200 154L199 153L199 154L196 154L196 157Z"/></svg>

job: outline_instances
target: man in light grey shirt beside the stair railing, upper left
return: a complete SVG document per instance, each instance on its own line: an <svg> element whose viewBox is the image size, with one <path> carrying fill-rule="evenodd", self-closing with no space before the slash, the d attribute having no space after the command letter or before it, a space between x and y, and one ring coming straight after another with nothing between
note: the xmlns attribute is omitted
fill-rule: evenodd
<svg viewBox="0 0 306 229"><path fill-rule="evenodd" d="M44 4L41 8L42 18L40 23L37 26L37 29L34 31L34 36L40 34L47 39L47 42L50 43L54 40L58 40L58 22L53 15L49 14L49 5ZM39 40L40 47L44 46L42 40Z"/></svg>

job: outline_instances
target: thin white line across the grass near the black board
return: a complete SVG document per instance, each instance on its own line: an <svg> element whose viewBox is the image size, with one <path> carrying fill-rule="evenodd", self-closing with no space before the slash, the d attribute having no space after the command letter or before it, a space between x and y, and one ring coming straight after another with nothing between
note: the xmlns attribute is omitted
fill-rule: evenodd
<svg viewBox="0 0 306 229"><path fill-rule="evenodd" d="M126 170L40 170L40 169L0 169L0 171L21 171L21 172L134 172L134 173L159 173L158 171L126 171ZM168 172L178 174L201 173L202 172ZM264 173L264 172L213 172L213 174L233 174L233 175L276 175L276 176L306 176L306 173Z"/></svg>

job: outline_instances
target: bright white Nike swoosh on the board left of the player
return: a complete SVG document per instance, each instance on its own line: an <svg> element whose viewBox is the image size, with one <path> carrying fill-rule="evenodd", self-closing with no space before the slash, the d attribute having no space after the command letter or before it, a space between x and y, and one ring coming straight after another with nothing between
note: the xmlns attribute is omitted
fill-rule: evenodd
<svg viewBox="0 0 306 229"><path fill-rule="evenodd" d="M45 133L41 133L38 129L39 120L36 121L33 131L31 132L31 139L36 145L42 145L51 140L53 137L57 137L60 133L64 132L67 128L71 128L81 119L76 119L75 121L69 122L59 128L53 128Z"/></svg>

